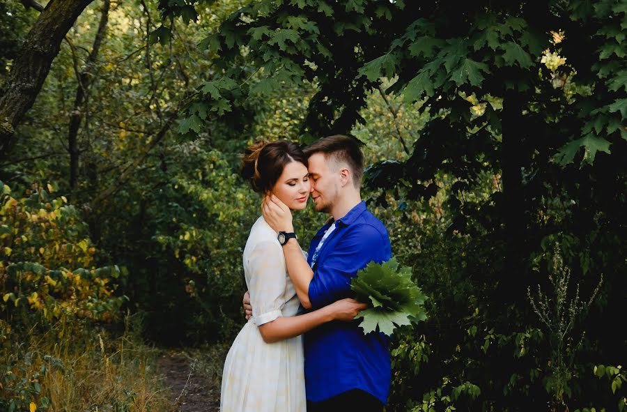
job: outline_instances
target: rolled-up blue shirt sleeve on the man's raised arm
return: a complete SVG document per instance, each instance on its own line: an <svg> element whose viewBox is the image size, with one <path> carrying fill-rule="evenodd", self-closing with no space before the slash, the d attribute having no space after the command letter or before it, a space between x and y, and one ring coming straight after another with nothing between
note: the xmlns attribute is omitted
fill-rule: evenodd
<svg viewBox="0 0 627 412"><path fill-rule="evenodd" d="M352 296L350 279L371 261L381 263L391 256L389 239L370 224L348 225L332 250L318 262L309 283L312 309Z"/></svg>

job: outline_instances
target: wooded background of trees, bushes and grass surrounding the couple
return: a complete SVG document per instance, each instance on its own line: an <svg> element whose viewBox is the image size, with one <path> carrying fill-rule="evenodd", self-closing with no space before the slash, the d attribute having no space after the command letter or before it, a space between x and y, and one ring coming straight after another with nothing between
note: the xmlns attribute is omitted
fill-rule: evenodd
<svg viewBox="0 0 627 412"><path fill-rule="evenodd" d="M219 379L240 154L350 133L429 298L387 411L624 411L626 36L620 0L3 1L0 409L167 411L155 345Z"/></svg>

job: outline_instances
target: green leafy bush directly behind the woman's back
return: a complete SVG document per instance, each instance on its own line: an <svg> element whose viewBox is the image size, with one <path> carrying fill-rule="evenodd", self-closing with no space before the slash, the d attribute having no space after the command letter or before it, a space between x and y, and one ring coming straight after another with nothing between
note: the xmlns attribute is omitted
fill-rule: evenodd
<svg viewBox="0 0 627 412"><path fill-rule="evenodd" d="M229 337L238 328L234 323L240 317L237 303L245 290L242 245L257 218L256 204L260 200L242 184L218 151L206 151L197 143L183 144L172 161L187 167L163 189L169 211L164 213L161 206L148 210L150 220L156 224L150 243L162 255L157 261L180 273L178 280L160 280L163 286L157 289L162 290L158 292L159 300L169 302L170 298L162 293L178 289L180 300L187 303L173 316L183 316L178 311L185 313L190 306L196 308L194 315L183 321L186 326L181 330L183 337L192 342ZM240 207L233 208L233 202ZM174 266L173 261L177 263ZM155 262L156 266L163 264ZM176 326L160 326L157 322L150 319L155 332Z"/></svg>

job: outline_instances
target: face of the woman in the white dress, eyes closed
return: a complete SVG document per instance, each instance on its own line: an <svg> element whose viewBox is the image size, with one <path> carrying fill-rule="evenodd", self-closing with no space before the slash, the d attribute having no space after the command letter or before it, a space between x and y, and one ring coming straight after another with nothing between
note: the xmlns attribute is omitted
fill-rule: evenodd
<svg viewBox="0 0 627 412"><path fill-rule="evenodd" d="M307 207L309 199L309 171L301 162L289 162L283 168L272 193L292 210Z"/></svg>

